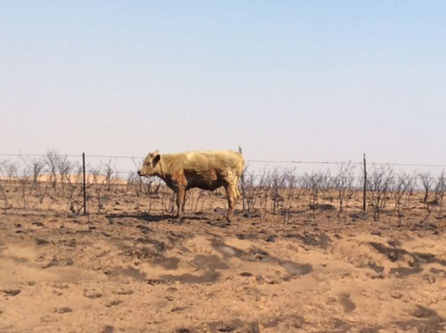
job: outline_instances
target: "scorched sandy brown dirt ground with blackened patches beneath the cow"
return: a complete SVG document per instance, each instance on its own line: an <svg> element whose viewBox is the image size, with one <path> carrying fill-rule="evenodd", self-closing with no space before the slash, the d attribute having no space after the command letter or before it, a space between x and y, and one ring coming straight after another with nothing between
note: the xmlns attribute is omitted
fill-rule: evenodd
<svg viewBox="0 0 446 333"><path fill-rule="evenodd" d="M89 216L14 195L0 332L446 332L446 215L420 224L421 204L400 227L393 210L374 222L360 202L338 218L306 201L287 224L238 211L226 226L207 196L179 225L130 194Z"/></svg>

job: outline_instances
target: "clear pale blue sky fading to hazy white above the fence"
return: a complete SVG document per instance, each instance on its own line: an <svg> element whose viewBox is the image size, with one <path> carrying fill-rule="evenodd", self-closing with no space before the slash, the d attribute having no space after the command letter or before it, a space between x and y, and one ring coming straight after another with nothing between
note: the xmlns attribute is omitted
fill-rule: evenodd
<svg viewBox="0 0 446 333"><path fill-rule="evenodd" d="M0 151L446 164L445 1L0 1Z"/></svg>

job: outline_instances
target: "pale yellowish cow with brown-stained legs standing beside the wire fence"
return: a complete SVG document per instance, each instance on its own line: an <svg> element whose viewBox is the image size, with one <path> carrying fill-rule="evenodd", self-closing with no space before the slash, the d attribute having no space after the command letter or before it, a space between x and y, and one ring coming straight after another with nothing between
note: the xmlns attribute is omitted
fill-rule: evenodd
<svg viewBox="0 0 446 333"><path fill-rule="evenodd" d="M221 186L228 200L227 224L231 223L234 207L241 197L239 179L245 161L240 153L231 150L201 150L180 154L159 154L156 150L144 159L139 176L158 176L176 193L176 215L183 220L186 191L191 188L215 190Z"/></svg>

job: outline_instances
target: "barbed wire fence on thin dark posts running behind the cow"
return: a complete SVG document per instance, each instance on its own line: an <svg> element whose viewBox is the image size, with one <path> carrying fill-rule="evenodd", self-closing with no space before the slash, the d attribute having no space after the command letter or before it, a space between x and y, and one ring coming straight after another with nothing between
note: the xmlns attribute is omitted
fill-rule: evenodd
<svg viewBox="0 0 446 333"><path fill-rule="evenodd" d="M239 148L241 151L241 148ZM54 164L55 160L61 162L61 165L57 167ZM102 160L96 165L92 165L89 162L92 159L108 159L108 162L103 162ZM117 170L116 166L112 167L112 161L117 159L127 159L132 161L134 164L134 171L120 171ZM144 157L141 156L121 156L121 155L88 155L88 154L59 154L53 151L48 151L46 154L7 154L0 153L0 179L4 179L5 175L9 178L20 177L34 174L34 181L36 179L35 174L54 174L56 175L56 168L59 169L60 175L62 177L63 168L71 168L78 170L78 173L82 173L82 177L78 177L76 181L82 183L82 194L83 194L83 208L84 214L86 214L86 200L87 200L87 190L86 190L86 174L95 174L96 179L99 174L107 174L107 177L116 177L124 179L127 177L127 182L132 177L136 177L136 169L141 165ZM65 163L65 164L64 164ZM88 163L88 164L87 164ZM244 171L244 177L241 181L242 191L243 191L243 209L245 207L245 202L248 202L247 195L245 193L245 188L247 186L271 186L272 182L275 181L274 187L295 187L296 182L299 181L300 186L305 186L308 189L313 189L315 191L316 187L322 186L322 182L325 182L324 186L334 186L339 187L342 184L351 183L351 186L355 190L363 189L364 198L363 206L364 210L366 207L366 190L370 191L380 191L380 186L388 187L390 182L392 185L401 187L403 184L406 188L410 186L412 189L425 190L427 200L428 192L434 190L434 187L440 187L440 191L443 197L443 192L446 190L445 172L446 164L429 164L429 163L390 163L390 162L369 162L366 164L366 158L364 155L363 161L307 161L307 160L269 160L269 159L245 159L246 169ZM264 165L261 173L256 173L251 171L249 167L251 165ZM295 174L295 170L299 165L305 166L321 166L328 167L325 173L319 171L314 171L312 169L304 174ZM332 174L330 167L335 166L337 171ZM405 172L395 172L394 168L404 167L404 168L429 168L430 171L427 172L417 172L416 169L412 174ZM294 168L294 169L293 169ZM352 173L353 169L360 169L360 175L354 175ZM348 169L348 170L347 170ZM382 170L380 174L378 169ZM431 174L431 169L442 170L439 176L434 176ZM345 172L348 171L348 174ZM68 172L65 170L65 172ZM279 181L278 174L282 173L282 180ZM344 174L343 174L344 173ZM384 177L384 173L387 173L387 178ZM367 174L372 178L375 188L373 188L370 180L367 179ZM373 177L375 177L373 179ZM265 180L269 178L268 180ZM54 179L54 178L53 178ZM370 178L369 178L370 179ZM355 184L353 184L355 182ZM410 183L410 184L409 184ZM399 185L397 185L399 184ZM342 186L344 186L342 185ZM378 189L376 187L378 186ZM317 190L316 190L317 192ZM379 193L379 192L378 192ZM317 196L317 193L316 193ZM378 203L379 205L380 203ZM342 205L342 204L341 204ZM375 204L373 204L375 205Z"/></svg>

